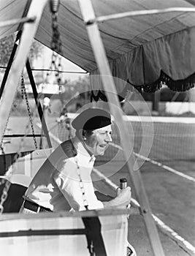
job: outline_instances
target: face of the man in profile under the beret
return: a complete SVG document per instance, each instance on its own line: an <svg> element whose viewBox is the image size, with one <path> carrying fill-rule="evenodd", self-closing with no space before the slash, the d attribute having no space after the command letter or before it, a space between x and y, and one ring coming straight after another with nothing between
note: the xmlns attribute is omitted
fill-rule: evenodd
<svg viewBox="0 0 195 256"><path fill-rule="evenodd" d="M86 148L88 148L94 156L104 155L104 151L112 141L111 133L111 125L93 130L91 135L85 135L84 143Z"/></svg>

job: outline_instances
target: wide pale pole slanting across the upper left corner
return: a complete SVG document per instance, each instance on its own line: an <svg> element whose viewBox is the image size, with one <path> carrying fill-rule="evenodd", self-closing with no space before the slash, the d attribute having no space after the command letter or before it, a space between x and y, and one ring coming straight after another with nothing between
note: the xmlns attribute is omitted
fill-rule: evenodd
<svg viewBox="0 0 195 256"><path fill-rule="evenodd" d="M29 7L27 17L35 16L36 20L34 20L33 23L25 23L23 25L23 34L20 39L20 45L18 46L18 51L16 53L15 60L12 63L12 67L10 67L10 74L7 78L7 83L4 86L4 94L3 97L1 97L0 102L0 138L2 138L4 135L6 121L9 116L9 112L12 108L12 102L14 100L15 93L18 88L20 75L23 71L23 67L28 56L28 51L31 46L31 42L37 32L39 20L42 16L42 12L44 10L46 3L47 0L31 1L31 6Z"/></svg>

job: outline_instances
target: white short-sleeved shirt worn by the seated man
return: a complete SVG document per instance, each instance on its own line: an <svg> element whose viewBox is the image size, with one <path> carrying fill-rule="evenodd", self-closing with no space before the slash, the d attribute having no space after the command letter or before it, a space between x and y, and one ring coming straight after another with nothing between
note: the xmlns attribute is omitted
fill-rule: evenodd
<svg viewBox="0 0 195 256"><path fill-rule="evenodd" d="M26 197L52 211L69 211L71 208L84 211L85 205L88 209L103 208L91 180L95 157L88 154L77 138L72 139L77 155L69 157L67 153L66 156L64 151L71 149L66 147L66 143L61 143L40 167L26 191Z"/></svg>

